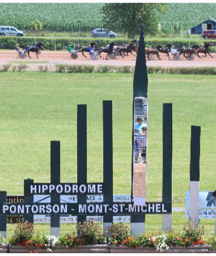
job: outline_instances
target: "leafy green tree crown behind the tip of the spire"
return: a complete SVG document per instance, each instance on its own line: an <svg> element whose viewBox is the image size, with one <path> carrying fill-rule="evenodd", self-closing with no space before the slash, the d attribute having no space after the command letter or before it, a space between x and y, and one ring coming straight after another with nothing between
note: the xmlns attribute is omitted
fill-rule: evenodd
<svg viewBox="0 0 216 256"><path fill-rule="evenodd" d="M104 24L113 30L122 31L129 37L138 35L140 25L145 35L156 35L158 17L166 11L167 4L160 3L106 3L103 6Z"/></svg>

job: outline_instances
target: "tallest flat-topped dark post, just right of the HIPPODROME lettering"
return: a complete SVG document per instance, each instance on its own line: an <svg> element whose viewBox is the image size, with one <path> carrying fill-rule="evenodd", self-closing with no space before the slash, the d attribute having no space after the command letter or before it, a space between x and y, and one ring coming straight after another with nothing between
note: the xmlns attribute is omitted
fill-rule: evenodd
<svg viewBox="0 0 216 256"><path fill-rule="evenodd" d="M112 101L103 101L103 195L104 203L113 202L113 157L112 157ZM111 226L112 214L104 215L104 234L106 227Z"/></svg>

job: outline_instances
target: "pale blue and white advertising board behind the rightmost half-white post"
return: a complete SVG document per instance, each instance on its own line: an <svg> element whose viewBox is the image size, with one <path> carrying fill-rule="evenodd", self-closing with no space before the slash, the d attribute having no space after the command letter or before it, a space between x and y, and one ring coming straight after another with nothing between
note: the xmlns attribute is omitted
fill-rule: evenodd
<svg viewBox="0 0 216 256"><path fill-rule="evenodd" d="M215 219L215 197L213 191L199 191L199 219ZM190 191L186 191L185 217L189 216Z"/></svg>

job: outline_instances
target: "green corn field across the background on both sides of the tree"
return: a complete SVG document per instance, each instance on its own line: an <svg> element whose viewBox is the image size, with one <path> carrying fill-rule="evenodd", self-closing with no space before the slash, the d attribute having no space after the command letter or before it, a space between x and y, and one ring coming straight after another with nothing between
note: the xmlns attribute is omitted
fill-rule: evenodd
<svg viewBox="0 0 216 256"><path fill-rule="evenodd" d="M102 26L103 3L0 3L0 25L29 30L31 22L40 20L46 31L91 31ZM194 25L216 19L214 3L167 4L160 15L163 32L179 34Z"/></svg>

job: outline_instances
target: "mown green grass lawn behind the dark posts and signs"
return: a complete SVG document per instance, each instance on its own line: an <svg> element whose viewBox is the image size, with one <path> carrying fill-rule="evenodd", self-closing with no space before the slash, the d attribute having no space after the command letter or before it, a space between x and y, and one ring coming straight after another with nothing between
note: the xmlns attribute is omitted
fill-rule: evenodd
<svg viewBox="0 0 216 256"><path fill-rule="evenodd" d="M77 181L77 104L87 104L87 180L102 182L102 101L113 100L113 189L130 194L133 74L8 72L0 78L0 190L22 195L26 178L50 182L50 140L61 143L61 182ZM185 207L189 189L191 125L201 126L200 190L215 190L215 95L215 76L149 75L147 201L161 200L163 103L173 103L173 207ZM185 222L184 213L173 213L174 231ZM213 232L214 221L201 223ZM146 232L159 230L161 216L146 216Z"/></svg>

